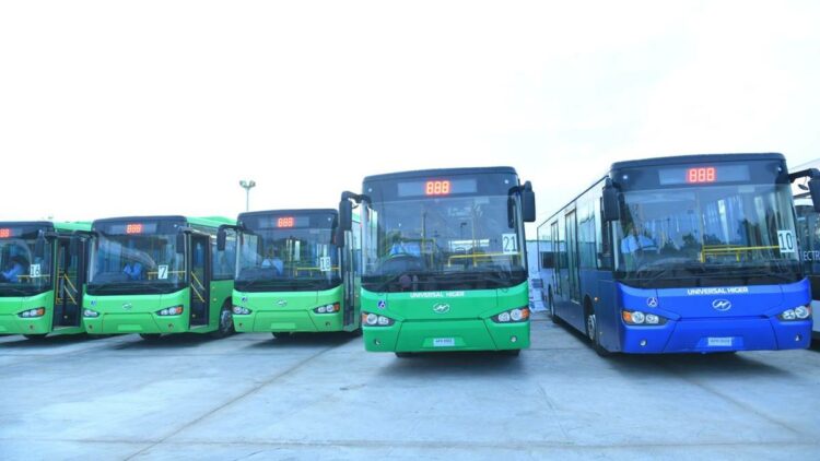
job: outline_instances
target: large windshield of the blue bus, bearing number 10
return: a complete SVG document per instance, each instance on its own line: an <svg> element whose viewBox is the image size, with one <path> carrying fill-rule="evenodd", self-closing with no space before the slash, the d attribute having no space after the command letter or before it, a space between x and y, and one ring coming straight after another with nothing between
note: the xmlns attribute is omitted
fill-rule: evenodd
<svg viewBox="0 0 820 461"><path fill-rule="evenodd" d="M616 267L640 287L799 280L787 185L625 191Z"/></svg>

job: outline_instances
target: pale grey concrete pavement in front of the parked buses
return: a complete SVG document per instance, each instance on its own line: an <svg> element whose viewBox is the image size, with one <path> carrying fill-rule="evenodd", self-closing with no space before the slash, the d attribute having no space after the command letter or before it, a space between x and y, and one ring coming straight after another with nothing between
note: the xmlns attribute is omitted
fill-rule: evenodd
<svg viewBox="0 0 820 461"><path fill-rule="evenodd" d="M265 334L0 339L0 459L820 459L820 348L517 358Z"/></svg>

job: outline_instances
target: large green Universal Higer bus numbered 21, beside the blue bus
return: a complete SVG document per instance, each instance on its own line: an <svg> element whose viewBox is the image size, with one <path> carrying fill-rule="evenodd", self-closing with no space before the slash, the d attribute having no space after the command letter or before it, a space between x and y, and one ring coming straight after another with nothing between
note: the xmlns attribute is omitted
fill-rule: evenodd
<svg viewBox="0 0 820 461"><path fill-rule="evenodd" d="M506 351L529 345L524 223L535 194L511 167L394 173L342 193L361 203L367 351Z"/></svg>

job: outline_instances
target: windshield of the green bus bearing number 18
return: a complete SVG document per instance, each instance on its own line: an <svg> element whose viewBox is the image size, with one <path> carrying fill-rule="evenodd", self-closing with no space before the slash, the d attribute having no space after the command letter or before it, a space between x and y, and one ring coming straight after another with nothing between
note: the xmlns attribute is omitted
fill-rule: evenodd
<svg viewBox="0 0 820 461"><path fill-rule="evenodd" d="M341 283L330 227L248 229L239 247L236 289L315 291Z"/></svg>

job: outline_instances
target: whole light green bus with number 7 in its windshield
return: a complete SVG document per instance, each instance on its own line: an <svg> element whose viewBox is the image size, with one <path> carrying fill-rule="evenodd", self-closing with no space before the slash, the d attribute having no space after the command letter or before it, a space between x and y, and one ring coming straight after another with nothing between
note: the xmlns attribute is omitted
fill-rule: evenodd
<svg viewBox="0 0 820 461"><path fill-rule="evenodd" d="M92 224L83 324L90 334L233 331L236 237L216 249L225 217L130 216Z"/></svg>

